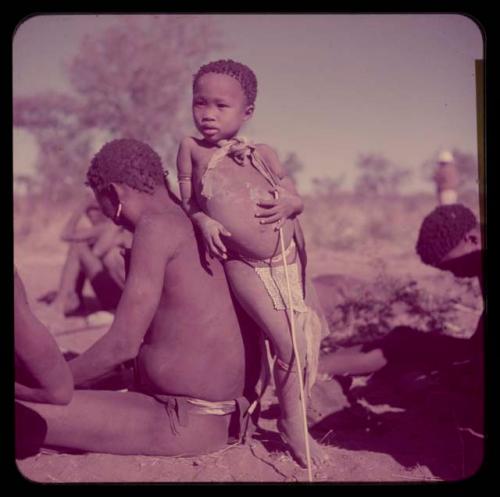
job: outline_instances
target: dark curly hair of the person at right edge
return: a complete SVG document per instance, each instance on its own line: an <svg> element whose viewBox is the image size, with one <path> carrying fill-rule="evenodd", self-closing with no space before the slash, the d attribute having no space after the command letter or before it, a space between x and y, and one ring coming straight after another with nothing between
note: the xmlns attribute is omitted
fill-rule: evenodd
<svg viewBox="0 0 500 497"><path fill-rule="evenodd" d="M476 225L476 216L465 205L436 207L422 222L416 245L417 254L423 263L437 267L443 257Z"/></svg>

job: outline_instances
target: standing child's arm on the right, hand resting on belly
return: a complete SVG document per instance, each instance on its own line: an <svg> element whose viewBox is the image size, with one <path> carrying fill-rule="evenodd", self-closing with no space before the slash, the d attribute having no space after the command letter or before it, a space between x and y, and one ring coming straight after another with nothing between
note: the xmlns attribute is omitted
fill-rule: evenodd
<svg viewBox="0 0 500 497"><path fill-rule="evenodd" d="M277 223L276 229L279 229L287 218L293 219L304 210L304 203L275 150L268 145L259 145L258 150L267 166L279 178L279 183L276 188L271 190L273 193L276 192L274 199L258 202L257 205L263 209L256 216L263 218L262 224Z"/></svg>

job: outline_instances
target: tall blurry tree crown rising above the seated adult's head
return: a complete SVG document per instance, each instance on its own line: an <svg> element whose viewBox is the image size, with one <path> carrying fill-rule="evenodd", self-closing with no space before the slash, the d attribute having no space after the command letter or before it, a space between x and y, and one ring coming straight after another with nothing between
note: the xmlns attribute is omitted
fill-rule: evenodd
<svg viewBox="0 0 500 497"><path fill-rule="evenodd" d="M206 19L125 17L101 37L86 37L69 65L83 121L112 136L147 141L163 157L190 116L192 75L216 46Z"/></svg>

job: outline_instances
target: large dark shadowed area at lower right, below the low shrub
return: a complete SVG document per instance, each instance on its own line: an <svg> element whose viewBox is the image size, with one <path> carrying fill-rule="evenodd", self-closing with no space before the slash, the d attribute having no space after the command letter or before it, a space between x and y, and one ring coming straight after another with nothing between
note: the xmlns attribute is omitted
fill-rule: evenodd
<svg viewBox="0 0 500 497"><path fill-rule="evenodd" d="M365 348L382 349L387 364L354 377L343 389L348 406L311 432L337 447L389 454L408 468L425 465L443 480L472 476L483 459L484 382L469 342L394 329Z"/></svg>

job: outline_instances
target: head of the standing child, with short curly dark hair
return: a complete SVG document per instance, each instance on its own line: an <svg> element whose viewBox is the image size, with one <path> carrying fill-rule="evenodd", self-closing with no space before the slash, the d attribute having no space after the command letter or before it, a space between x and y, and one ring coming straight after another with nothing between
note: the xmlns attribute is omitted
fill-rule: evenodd
<svg viewBox="0 0 500 497"><path fill-rule="evenodd" d="M200 68L193 79L193 118L208 142L235 136L253 115L257 79L233 60L218 60Z"/></svg>

